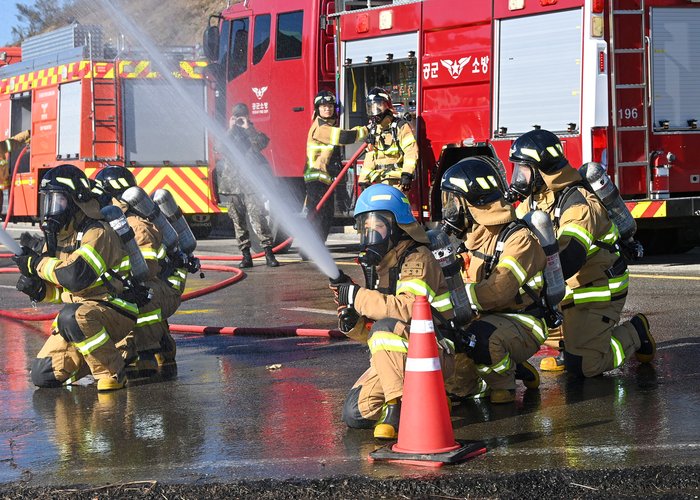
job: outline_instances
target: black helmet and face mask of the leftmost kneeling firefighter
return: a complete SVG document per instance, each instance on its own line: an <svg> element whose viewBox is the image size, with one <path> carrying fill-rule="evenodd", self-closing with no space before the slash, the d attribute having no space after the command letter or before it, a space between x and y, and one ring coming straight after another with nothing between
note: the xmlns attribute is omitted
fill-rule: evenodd
<svg viewBox="0 0 700 500"><path fill-rule="evenodd" d="M76 202L85 203L95 197L85 172L75 165L54 167L41 179L39 192L44 195L44 233L58 233L68 226L80 210Z"/></svg>

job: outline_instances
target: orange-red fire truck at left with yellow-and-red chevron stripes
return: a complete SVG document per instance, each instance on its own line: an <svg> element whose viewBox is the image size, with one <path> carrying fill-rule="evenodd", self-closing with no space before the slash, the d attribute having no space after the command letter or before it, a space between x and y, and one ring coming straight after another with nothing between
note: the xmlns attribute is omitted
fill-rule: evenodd
<svg viewBox="0 0 700 500"><path fill-rule="evenodd" d="M206 236L221 210L213 199L211 146L199 120L187 118L181 99L159 71L181 80L209 111L213 91L206 61L195 47L163 47L163 66L127 47L103 42L99 25L73 24L0 49L0 140L31 131L31 147L17 164L15 221L41 216L38 187L47 170L64 163L89 177L107 165L128 167L147 192L167 188L193 231ZM210 95L211 94L211 95ZM12 173L12 171L11 171Z"/></svg>

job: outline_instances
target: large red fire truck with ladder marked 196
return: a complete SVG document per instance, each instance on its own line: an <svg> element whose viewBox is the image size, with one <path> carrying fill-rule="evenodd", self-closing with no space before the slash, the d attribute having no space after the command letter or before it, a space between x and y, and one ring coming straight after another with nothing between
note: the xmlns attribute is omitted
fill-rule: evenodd
<svg viewBox="0 0 700 500"><path fill-rule="evenodd" d="M513 140L543 128L607 168L648 251L700 242L700 0L246 0L210 25L220 119L248 104L299 191L314 95L336 92L349 128L379 86L412 119L424 223L447 168L490 155L510 175Z"/></svg>

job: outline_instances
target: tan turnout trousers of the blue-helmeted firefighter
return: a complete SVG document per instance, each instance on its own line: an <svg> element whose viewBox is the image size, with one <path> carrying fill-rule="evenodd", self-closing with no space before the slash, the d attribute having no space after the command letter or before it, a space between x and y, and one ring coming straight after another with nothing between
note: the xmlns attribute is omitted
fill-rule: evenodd
<svg viewBox="0 0 700 500"><path fill-rule="evenodd" d="M386 401L403 396L410 325L386 318L372 325L367 344L370 367L355 382L345 399L343 422L356 429L372 428L382 416ZM446 355L438 344L443 379L454 371L454 354Z"/></svg>

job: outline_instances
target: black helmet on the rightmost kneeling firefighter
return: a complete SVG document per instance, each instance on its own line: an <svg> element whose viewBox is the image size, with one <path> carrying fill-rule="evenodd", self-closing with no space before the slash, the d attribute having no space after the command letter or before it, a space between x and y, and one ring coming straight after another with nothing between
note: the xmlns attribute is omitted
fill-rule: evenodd
<svg viewBox="0 0 700 500"><path fill-rule="evenodd" d="M559 138L543 129L518 137L510 148L509 160L525 163L545 174L553 174L567 164Z"/></svg>

